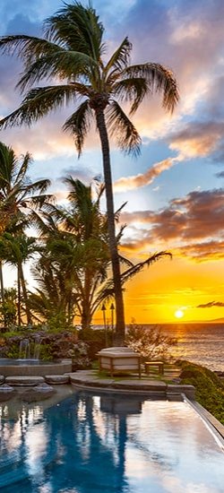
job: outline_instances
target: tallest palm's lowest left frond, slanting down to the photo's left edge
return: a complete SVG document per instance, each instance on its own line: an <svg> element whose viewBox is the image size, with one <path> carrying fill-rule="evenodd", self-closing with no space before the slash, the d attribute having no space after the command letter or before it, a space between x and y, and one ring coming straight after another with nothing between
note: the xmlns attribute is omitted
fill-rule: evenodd
<svg viewBox="0 0 224 493"><path fill-rule="evenodd" d="M75 98L72 84L39 87L28 92L20 108L0 120L0 128L28 125L36 122L53 109L68 104Z"/></svg>

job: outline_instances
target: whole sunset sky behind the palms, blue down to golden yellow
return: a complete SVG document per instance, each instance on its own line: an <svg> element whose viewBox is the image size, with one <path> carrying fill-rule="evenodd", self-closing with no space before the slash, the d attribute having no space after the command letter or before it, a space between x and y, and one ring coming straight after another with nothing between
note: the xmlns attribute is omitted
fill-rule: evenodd
<svg viewBox="0 0 224 493"><path fill-rule="evenodd" d="M61 6L59 0L1 0L1 35L40 36L42 21ZM127 225L123 255L138 262L160 250L173 254L126 285L126 321L224 317L224 2L94 0L93 6L106 29L107 56L128 35L132 62L172 68L181 96L172 117L158 97L144 101L134 116L142 136L140 157L124 157L111 143L116 208L127 201L121 216ZM0 57L1 117L22 100L14 89L21 71L13 56ZM65 200L61 177L72 174L89 184L102 176L95 128L80 160L72 137L62 132L70 113L65 108L30 129L17 127L0 136L17 154L30 151L30 176L50 177L60 203Z"/></svg>

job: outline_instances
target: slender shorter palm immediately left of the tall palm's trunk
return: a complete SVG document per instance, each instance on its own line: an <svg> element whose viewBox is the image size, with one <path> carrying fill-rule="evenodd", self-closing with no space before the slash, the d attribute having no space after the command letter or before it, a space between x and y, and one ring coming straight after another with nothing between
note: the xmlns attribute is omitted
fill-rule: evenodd
<svg viewBox="0 0 224 493"><path fill-rule="evenodd" d="M69 187L70 209L65 214L66 244L54 244L55 253L64 255L65 267L73 268L77 309L83 329L90 327L96 310L97 293L107 279L110 256L108 251L108 221L99 211L104 187L98 186L97 198L92 198L92 187L73 177L65 178ZM66 248L65 248L66 246Z"/></svg>

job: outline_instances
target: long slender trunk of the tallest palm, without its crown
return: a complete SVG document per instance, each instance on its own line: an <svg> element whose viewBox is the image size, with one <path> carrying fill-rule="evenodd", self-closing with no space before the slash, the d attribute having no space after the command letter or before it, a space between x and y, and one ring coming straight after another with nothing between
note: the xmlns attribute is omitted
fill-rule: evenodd
<svg viewBox="0 0 224 493"><path fill-rule="evenodd" d="M109 236L109 249L112 262L114 290L115 290L115 302L116 302L116 333L115 344L117 346L123 346L125 342L125 309L123 300L123 291L120 276L120 263L119 255L116 245L116 229L115 229L115 212L114 212L114 199L112 189L112 177L110 168L110 154L108 143L108 131L105 123L104 111L102 108L95 109L97 125L99 129L99 137L103 155L103 170L104 181L107 200L108 211L108 236Z"/></svg>

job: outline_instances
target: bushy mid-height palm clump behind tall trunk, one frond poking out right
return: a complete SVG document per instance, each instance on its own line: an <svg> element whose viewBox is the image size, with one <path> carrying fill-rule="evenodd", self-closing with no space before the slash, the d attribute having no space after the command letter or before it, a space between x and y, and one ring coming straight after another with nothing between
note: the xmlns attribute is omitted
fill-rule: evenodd
<svg viewBox="0 0 224 493"><path fill-rule="evenodd" d="M42 255L32 269L39 289L30 295L30 307L47 324L71 324L73 315L80 316L82 329L88 329L92 316L106 300L114 298L111 279L111 259L108 250L108 218L99 209L103 186L92 198L92 187L73 177L65 178L69 186L69 206L57 208L50 203L46 211L34 212L40 234ZM116 212L118 219L119 211ZM116 237L119 244L124 227ZM120 256L126 265L121 273L122 285L168 252L151 255L147 260L132 264ZM63 318L64 314L64 318Z"/></svg>

